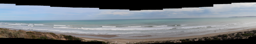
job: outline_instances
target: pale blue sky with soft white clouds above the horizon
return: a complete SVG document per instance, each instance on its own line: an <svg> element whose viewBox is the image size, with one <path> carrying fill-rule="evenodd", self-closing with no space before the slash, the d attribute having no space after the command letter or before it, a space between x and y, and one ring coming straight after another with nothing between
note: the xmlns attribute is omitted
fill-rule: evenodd
<svg viewBox="0 0 256 44"><path fill-rule="evenodd" d="M213 7L163 10L99 9L0 4L0 20L97 20L256 16L256 3L214 4Z"/></svg>

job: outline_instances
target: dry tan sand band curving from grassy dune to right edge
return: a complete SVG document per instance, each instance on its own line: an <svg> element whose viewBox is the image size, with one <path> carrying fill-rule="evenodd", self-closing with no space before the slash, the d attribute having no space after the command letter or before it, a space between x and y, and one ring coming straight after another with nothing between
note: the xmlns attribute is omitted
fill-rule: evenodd
<svg viewBox="0 0 256 44"><path fill-rule="evenodd" d="M242 29L242 28L239 28L239 29ZM232 30L232 29L229 29L229 30ZM86 39L86 40L109 41L109 42L112 42L112 43L115 43L115 41L117 41L116 42L117 44L126 44L127 41L129 41L129 43L132 43L132 42L141 42L141 41L179 40L179 39L188 39L188 38L217 36L217 35L222 35L222 34L245 32L245 31L252 31L252 30L256 30L256 28L251 28L249 30L245 29L245 30L239 30L239 31L212 33L212 34L206 34L206 35L187 36L187 37L168 37L168 38L151 38L151 39L95 39L95 38L85 38L85 37L79 37L79 38Z"/></svg>

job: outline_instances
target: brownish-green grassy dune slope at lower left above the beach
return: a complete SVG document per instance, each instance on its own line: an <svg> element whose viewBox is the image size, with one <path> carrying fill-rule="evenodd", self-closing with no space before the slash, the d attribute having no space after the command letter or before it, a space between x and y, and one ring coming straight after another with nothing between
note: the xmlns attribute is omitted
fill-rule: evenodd
<svg viewBox="0 0 256 44"><path fill-rule="evenodd" d="M68 40L84 40L81 38L77 38L74 36L68 35L59 35L60 38L66 38ZM63 36L63 37L62 37ZM0 38L25 38L25 39L51 39L58 40L60 39L58 35L54 33L44 33L44 32L26 32L23 30L9 30L0 28ZM55 39L53 39L55 38ZM107 44L104 41L89 41L89 42L102 42L103 44ZM110 43L110 42L109 42Z"/></svg>

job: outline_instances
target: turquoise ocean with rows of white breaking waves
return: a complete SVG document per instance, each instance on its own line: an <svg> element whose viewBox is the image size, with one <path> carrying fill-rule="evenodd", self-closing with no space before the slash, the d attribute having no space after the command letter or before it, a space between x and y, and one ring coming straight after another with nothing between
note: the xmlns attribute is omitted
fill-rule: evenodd
<svg viewBox="0 0 256 44"><path fill-rule="evenodd" d="M0 28L13 28L30 31L81 35L117 36L112 38L78 36L101 39L147 39L162 37L183 37L216 33L211 32L216 30L254 28L255 26L256 17L112 20L0 20Z"/></svg>

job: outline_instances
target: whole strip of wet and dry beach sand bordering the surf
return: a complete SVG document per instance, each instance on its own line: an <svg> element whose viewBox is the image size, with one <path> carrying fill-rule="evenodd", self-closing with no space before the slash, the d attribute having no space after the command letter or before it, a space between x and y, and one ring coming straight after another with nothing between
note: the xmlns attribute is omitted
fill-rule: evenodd
<svg viewBox="0 0 256 44"><path fill-rule="evenodd" d="M12 30L19 30L19 29L13 29L13 28L5 28L5 29L12 29ZM241 28L238 28L241 29ZM227 29L227 30L232 30L232 29ZM104 41L104 42L111 42L111 43L116 43L117 44L126 44L126 42L129 41L129 43L136 43L136 42L140 42L140 41L161 41L161 40L179 40L179 39L188 39L188 38L202 38L202 37L209 37L209 36L217 36L217 35L222 35L222 34L230 34L230 33L236 33L236 32L245 32L245 31L252 31L252 30L256 30L256 28L250 28L248 29L244 29L244 30L238 30L238 31L230 31L230 32L220 32L220 33L212 33L212 34L205 34L205 35L196 35L196 36L186 36L186 37L166 37L166 38L149 38L149 39L99 39L99 38L86 38L86 37L78 37L78 38L82 38L85 40L97 40L97 41ZM26 32L29 32L28 30L24 30ZM225 31L225 30L223 30ZM38 32L42 32L42 31L38 31ZM214 31L213 31L214 32ZM50 32L49 32L50 33ZM51 32L53 33L53 32ZM55 33L56 35L58 34L63 34L63 35L80 35L80 34L66 34L66 33ZM89 35L89 36L97 36L97 37L117 37L117 36L113 36L113 35Z"/></svg>

